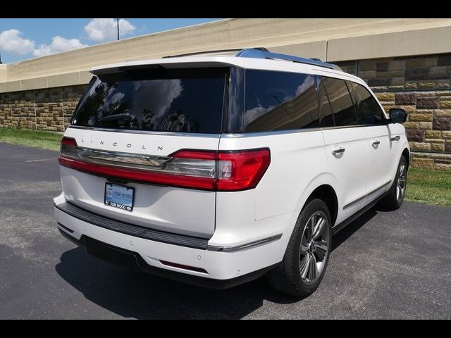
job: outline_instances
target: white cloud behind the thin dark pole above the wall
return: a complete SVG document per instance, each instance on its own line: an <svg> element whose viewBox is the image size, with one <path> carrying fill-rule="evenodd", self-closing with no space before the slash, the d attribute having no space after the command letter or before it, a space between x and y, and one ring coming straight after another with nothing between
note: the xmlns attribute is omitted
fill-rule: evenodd
<svg viewBox="0 0 451 338"><path fill-rule="evenodd" d="M128 35L136 29L127 20L119 20L119 34L121 37ZM118 37L118 27L116 19L92 19L85 25L85 32L88 39L97 42L113 41Z"/></svg>

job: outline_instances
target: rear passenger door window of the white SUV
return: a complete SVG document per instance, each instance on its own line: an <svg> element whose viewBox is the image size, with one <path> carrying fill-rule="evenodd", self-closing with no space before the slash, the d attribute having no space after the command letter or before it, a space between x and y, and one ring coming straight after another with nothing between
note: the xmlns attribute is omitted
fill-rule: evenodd
<svg viewBox="0 0 451 338"><path fill-rule="evenodd" d="M323 77L323 83L332 106L335 125L357 125L357 115L350 92L344 80Z"/></svg>

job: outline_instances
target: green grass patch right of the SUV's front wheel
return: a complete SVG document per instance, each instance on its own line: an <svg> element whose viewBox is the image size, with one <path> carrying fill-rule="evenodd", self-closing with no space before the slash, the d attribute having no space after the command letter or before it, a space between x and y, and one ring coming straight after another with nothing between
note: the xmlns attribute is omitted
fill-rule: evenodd
<svg viewBox="0 0 451 338"><path fill-rule="evenodd" d="M451 171L410 168L405 199L451 206Z"/></svg>

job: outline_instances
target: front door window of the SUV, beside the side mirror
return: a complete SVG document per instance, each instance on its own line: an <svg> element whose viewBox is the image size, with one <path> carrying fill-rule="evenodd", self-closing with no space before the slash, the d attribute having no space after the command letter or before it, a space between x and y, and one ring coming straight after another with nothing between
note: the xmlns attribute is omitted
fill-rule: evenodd
<svg viewBox="0 0 451 338"><path fill-rule="evenodd" d="M364 125L381 125L385 118L374 96L362 84L352 82L356 98L357 115Z"/></svg>

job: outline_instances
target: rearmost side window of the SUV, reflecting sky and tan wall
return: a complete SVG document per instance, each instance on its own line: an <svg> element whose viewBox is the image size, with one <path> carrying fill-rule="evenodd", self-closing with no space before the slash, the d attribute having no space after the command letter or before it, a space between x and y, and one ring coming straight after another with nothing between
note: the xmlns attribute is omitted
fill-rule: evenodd
<svg viewBox="0 0 451 338"><path fill-rule="evenodd" d="M319 127L313 75L246 70L245 132Z"/></svg>

